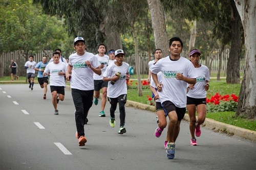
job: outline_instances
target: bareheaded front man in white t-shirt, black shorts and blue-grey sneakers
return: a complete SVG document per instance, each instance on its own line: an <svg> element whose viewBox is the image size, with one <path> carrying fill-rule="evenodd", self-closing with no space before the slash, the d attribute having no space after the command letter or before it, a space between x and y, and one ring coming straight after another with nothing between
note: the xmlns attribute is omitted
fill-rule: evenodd
<svg viewBox="0 0 256 170"><path fill-rule="evenodd" d="M197 73L193 64L181 57L183 43L179 37L169 40L170 55L159 60L151 67L152 78L159 91L161 104L168 115L167 158L174 159L175 141L179 135L180 122L186 112L187 83L195 84ZM157 73L162 71L162 83L158 82ZM157 128L156 131L161 131Z"/></svg>

